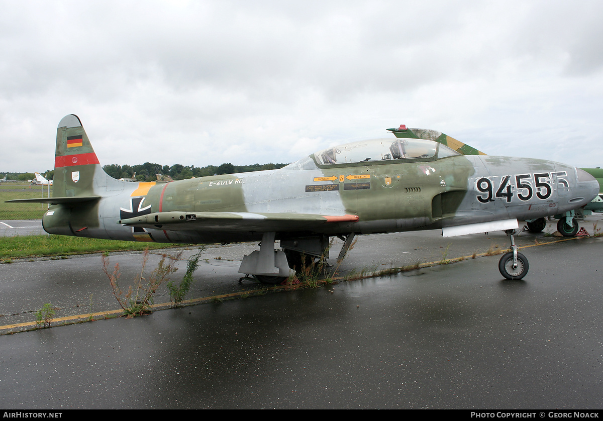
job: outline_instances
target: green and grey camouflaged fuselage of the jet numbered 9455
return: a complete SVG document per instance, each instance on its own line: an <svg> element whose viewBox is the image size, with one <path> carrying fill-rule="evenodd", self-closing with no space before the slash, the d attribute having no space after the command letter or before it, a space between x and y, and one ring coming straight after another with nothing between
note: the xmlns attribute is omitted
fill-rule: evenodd
<svg viewBox="0 0 603 421"><path fill-rule="evenodd" d="M490 220L534 219L575 209L590 201L596 185L589 179L582 181L579 171L539 159L449 156L320 168L307 157L277 170L167 183L119 182L103 172L94 174L96 185L90 186L92 190L106 189L99 201L78 204L77 209L52 205L43 226L49 233L122 240L261 239L261 228L233 230L224 222L209 223L206 230L187 230L184 226L165 230L153 224L131 227L118 223L162 212L239 212L358 215L358 221L283 232L277 238L438 229ZM63 180L66 191L77 185L69 177Z"/></svg>

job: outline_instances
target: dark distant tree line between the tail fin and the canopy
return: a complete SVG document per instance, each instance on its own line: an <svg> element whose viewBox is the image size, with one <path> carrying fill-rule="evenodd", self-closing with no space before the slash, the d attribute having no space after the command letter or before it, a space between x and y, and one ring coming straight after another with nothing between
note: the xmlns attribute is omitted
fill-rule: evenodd
<svg viewBox="0 0 603 421"><path fill-rule="evenodd" d="M198 167L194 165L180 165L176 163L172 166L160 165L158 163L145 162L139 165L117 165L110 164L103 166L103 169L114 179L129 179L136 173L136 180L141 182L150 182L157 180L156 174L172 177L174 180L190 179L192 177L206 177L217 174L248 173L251 171L264 171L265 169L278 169L287 165L286 163L265 163L260 165L232 165L232 163L223 163L222 165L208 165Z"/></svg>

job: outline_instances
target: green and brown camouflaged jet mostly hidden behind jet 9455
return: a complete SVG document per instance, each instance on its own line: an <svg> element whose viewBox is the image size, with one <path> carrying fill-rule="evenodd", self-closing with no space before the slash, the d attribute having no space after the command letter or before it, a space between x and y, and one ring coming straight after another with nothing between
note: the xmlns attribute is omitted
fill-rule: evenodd
<svg viewBox="0 0 603 421"><path fill-rule="evenodd" d="M463 142L459 142L455 138L451 138L450 136L441 133L441 131L406 128L404 124L400 124L399 128L388 128L387 130L394 133L396 138L429 139L447 145L463 155L485 155L482 151L478 151L476 148L466 145ZM559 220L557 223L557 231L566 237L572 237L578 233L578 220L581 218L583 219L584 215L590 215L592 212L603 212L603 170L600 168L581 169L596 178L599 183L599 194L582 209L572 209L561 214L550 215ZM535 220L526 220L526 225L530 232L541 232L546 227L546 219L537 218Z"/></svg>

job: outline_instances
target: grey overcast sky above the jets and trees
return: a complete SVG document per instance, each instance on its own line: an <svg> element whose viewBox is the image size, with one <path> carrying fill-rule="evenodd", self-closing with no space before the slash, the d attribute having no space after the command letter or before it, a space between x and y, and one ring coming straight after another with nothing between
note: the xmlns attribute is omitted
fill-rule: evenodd
<svg viewBox="0 0 603 421"><path fill-rule="evenodd" d="M292 162L431 128L603 164L602 1L0 0L0 171Z"/></svg>

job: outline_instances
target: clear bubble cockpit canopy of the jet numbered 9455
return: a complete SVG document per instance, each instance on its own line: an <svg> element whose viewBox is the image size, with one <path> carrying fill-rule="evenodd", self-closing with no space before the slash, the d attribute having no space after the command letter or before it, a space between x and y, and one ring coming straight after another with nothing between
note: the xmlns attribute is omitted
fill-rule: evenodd
<svg viewBox="0 0 603 421"><path fill-rule="evenodd" d="M438 159L459 155L446 145L423 139L373 139L351 142L327 148L314 154L319 165L335 163L360 163L413 158ZM399 162L399 161L398 161Z"/></svg>

